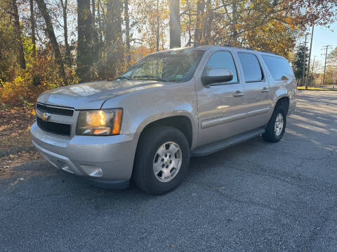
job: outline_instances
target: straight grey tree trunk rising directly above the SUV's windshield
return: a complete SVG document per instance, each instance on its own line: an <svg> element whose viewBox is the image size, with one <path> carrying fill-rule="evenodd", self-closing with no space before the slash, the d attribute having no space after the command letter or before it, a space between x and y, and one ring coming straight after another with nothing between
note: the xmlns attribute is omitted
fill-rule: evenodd
<svg viewBox="0 0 337 252"><path fill-rule="evenodd" d="M180 0L170 0L170 48L180 48Z"/></svg>

